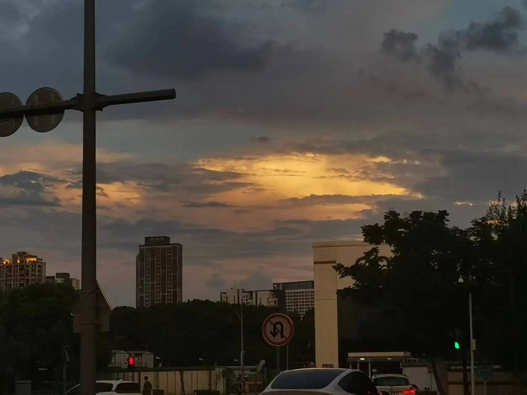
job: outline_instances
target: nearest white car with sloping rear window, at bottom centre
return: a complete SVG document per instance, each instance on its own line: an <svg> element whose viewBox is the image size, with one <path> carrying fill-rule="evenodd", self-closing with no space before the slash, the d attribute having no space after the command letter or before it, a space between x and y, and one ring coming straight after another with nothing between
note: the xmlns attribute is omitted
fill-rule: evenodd
<svg viewBox="0 0 527 395"><path fill-rule="evenodd" d="M377 395L360 370L308 368L281 372L260 395Z"/></svg>

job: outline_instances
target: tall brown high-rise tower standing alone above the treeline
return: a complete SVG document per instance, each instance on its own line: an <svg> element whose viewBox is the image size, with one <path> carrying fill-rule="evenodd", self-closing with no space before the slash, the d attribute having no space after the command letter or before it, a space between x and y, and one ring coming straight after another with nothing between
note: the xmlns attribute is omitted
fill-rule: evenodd
<svg viewBox="0 0 527 395"><path fill-rule="evenodd" d="M144 238L135 262L135 305L183 300L183 246L167 236Z"/></svg>

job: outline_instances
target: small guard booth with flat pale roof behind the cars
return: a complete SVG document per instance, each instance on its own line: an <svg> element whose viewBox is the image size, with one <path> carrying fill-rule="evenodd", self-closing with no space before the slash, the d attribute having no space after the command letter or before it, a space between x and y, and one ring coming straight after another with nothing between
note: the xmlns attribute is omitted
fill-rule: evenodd
<svg viewBox="0 0 527 395"><path fill-rule="evenodd" d="M348 352L346 359L349 369L362 370L373 374L403 374L403 364L411 360L409 352Z"/></svg>

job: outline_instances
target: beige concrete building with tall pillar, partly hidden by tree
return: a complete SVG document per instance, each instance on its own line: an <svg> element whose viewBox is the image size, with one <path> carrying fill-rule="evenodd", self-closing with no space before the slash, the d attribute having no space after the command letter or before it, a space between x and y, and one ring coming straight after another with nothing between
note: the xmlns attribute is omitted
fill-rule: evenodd
<svg viewBox="0 0 527 395"><path fill-rule="evenodd" d="M313 243L315 280L315 359L316 366L339 366L337 291L352 287L351 278L338 278L333 266L350 266L372 249L362 241ZM380 255L391 255L388 245L379 245ZM349 350L352 351L352 350ZM344 367L344 366L343 366Z"/></svg>

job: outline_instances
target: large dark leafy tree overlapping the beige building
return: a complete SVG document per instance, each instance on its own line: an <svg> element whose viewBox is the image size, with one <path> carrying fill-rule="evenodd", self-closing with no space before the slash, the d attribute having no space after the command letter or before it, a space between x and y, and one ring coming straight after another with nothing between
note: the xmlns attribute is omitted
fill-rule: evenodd
<svg viewBox="0 0 527 395"><path fill-rule="evenodd" d="M448 226L446 211L414 211L401 216L395 211L384 215L384 223L362 228L364 241L388 244L390 258L373 247L352 266L337 264L341 277L352 276L348 297L380 308L387 319L397 322L401 342L407 349L431 357L438 391L435 359L452 350L454 333L467 334L466 290L457 281L460 274L471 276L479 255L469 230Z"/></svg>

